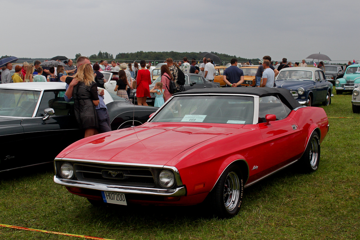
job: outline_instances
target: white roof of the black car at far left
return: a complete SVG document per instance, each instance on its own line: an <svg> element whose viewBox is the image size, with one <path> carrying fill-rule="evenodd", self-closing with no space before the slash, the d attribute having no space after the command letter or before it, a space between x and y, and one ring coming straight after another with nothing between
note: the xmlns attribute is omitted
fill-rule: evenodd
<svg viewBox="0 0 360 240"><path fill-rule="evenodd" d="M64 89L66 83L64 82L15 82L0 84L2 89L21 89L21 90L52 90Z"/></svg>

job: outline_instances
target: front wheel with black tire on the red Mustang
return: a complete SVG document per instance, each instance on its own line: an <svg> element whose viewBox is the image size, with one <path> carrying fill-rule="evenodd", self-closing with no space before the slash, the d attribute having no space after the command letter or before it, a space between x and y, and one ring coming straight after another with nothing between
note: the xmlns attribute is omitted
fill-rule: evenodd
<svg viewBox="0 0 360 240"><path fill-rule="evenodd" d="M210 201L215 215L231 218L238 214L243 201L244 180L237 166L228 167L211 191Z"/></svg>

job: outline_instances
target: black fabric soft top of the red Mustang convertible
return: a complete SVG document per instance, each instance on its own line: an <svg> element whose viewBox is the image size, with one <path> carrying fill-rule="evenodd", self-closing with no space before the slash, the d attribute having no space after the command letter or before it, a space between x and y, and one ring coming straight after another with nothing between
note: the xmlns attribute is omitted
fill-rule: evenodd
<svg viewBox="0 0 360 240"><path fill-rule="evenodd" d="M294 99L291 92L287 89L273 88L273 87L220 87L211 89L191 89L185 92L178 92L175 95L181 94L249 94L256 96L270 96L278 95L291 109L302 107L302 105Z"/></svg>

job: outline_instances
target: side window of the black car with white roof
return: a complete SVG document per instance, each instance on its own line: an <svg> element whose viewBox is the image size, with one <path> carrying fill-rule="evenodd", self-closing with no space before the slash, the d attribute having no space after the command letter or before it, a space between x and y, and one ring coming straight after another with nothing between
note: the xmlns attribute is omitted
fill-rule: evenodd
<svg viewBox="0 0 360 240"><path fill-rule="evenodd" d="M36 117L44 116L44 110L46 108L54 109L55 114L53 116L64 116L71 114L73 100L67 103L64 99L64 91L44 92L42 95L39 109L37 110Z"/></svg>

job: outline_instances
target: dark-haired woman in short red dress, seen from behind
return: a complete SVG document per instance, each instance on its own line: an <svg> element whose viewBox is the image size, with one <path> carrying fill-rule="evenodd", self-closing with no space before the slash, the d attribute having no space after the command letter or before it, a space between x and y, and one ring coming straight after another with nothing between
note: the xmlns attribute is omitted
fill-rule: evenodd
<svg viewBox="0 0 360 240"><path fill-rule="evenodd" d="M140 61L140 67L136 76L136 99L138 99L138 105L148 106L146 98L150 98L150 72L146 69L145 60Z"/></svg>

